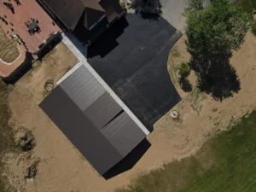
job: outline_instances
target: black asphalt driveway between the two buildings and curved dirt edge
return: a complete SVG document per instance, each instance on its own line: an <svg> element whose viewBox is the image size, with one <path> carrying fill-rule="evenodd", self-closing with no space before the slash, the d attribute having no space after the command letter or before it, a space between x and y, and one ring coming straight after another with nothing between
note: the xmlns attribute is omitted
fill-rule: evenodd
<svg viewBox="0 0 256 192"><path fill-rule="evenodd" d="M163 18L151 22L140 15L125 18L89 48L88 62L150 129L181 100L167 71L169 52L181 34ZM109 47L108 54L102 52Z"/></svg>

